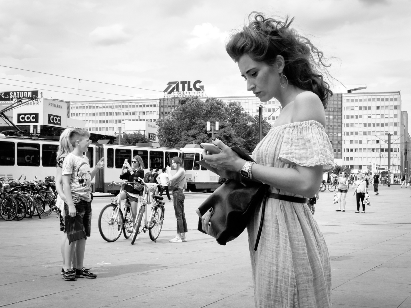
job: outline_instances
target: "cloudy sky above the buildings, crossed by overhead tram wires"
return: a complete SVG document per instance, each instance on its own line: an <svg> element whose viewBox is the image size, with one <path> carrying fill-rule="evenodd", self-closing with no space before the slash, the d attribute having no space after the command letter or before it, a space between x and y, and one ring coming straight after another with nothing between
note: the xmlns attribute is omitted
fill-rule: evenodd
<svg viewBox="0 0 411 308"><path fill-rule="evenodd" d="M264 11L295 17L330 58L334 90L339 82L401 90L411 118L410 8L409 0L2 0L0 89L72 101L159 98L169 81L199 79L208 96L249 95L224 43L249 12Z"/></svg>

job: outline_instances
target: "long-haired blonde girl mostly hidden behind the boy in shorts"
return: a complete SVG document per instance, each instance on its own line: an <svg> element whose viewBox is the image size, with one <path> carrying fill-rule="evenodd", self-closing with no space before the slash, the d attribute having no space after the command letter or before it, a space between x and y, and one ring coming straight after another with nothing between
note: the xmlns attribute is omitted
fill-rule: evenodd
<svg viewBox="0 0 411 308"><path fill-rule="evenodd" d="M61 274L64 273L64 269L66 267L65 263L65 253L64 253L64 248L66 246L66 242L68 241L67 239L67 234L66 234L66 227L64 225L64 202L67 203L66 197L63 192L63 176L62 176L62 170L63 170L63 162L66 156L73 152L73 146L69 142L69 137L70 133L74 129L72 128L67 128L64 131L62 131L60 135L60 145L58 146L58 152L57 152L57 170L56 170L56 176L55 176L55 190L58 193L57 201L55 203L56 207L58 208L58 216L60 218L60 231L63 232L62 239L60 241L60 251L63 259L63 265L61 268ZM74 243L75 245L75 243ZM72 255L72 264L67 264L70 265L72 268L76 267L76 257L74 254L75 248L72 250L73 255Z"/></svg>

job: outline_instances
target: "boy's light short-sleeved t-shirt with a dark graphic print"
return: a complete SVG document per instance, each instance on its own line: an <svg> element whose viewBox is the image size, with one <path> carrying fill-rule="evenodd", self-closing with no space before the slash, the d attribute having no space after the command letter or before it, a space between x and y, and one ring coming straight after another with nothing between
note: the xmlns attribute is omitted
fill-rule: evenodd
<svg viewBox="0 0 411 308"><path fill-rule="evenodd" d="M63 162L62 175L68 174L71 175L70 188L73 202L91 201L91 172L87 156L68 154Z"/></svg>

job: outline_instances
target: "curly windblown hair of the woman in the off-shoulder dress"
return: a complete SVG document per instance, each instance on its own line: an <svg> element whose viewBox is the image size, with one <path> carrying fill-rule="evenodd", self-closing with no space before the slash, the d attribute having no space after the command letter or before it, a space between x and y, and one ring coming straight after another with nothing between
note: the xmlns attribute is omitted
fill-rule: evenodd
<svg viewBox="0 0 411 308"><path fill-rule="evenodd" d="M290 28L294 18L289 21L287 16L285 21L277 21L259 12L252 12L248 17L249 25L234 33L226 45L230 57L238 62L247 54L254 61L272 65L277 55L282 55L285 60L282 73L289 83L317 94L326 108L332 91L321 71L330 65L324 63L323 53L309 39Z"/></svg>

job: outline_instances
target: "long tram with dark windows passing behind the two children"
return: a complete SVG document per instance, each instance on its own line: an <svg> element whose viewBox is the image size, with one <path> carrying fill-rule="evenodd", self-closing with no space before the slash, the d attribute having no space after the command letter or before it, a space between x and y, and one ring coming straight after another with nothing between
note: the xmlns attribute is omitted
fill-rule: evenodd
<svg viewBox="0 0 411 308"><path fill-rule="evenodd" d="M0 133L0 177L18 179L23 176L32 180L35 176L37 179L55 176L58 145L56 140L5 136ZM105 157L104 169L97 172L91 183L93 192L102 193L117 193L114 189L118 188L109 184L119 178L125 159L131 162L133 156L140 155L144 162L144 173L150 167L162 169L171 166L171 159L175 156L182 159L182 151L174 148L99 143L92 143L86 155L90 168L94 168L95 163ZM173 173L175 170L171 170Z"/></svg>

